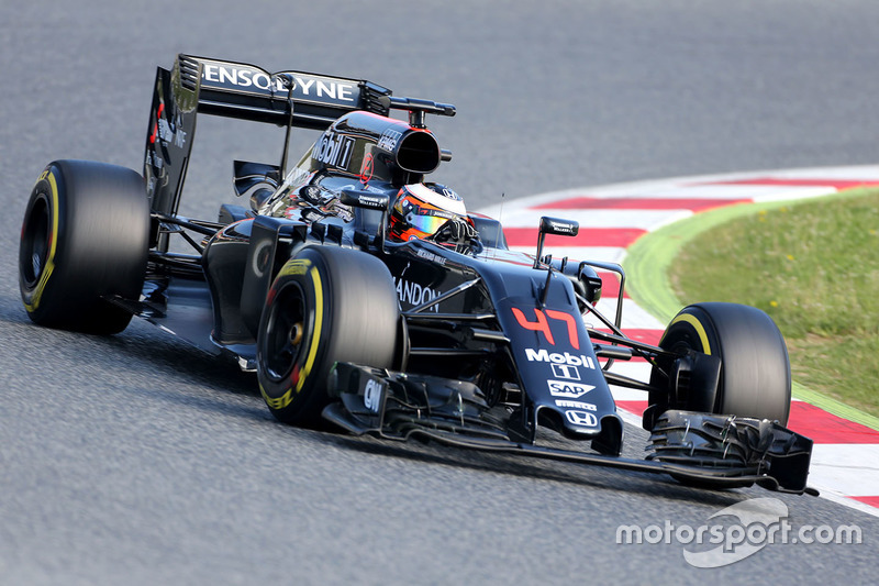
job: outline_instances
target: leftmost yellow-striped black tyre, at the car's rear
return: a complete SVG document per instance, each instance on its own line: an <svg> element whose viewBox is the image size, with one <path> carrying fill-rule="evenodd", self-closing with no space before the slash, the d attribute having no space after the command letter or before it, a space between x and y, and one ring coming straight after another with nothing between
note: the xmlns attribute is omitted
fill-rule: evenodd
<svg viewBox="0 0 879 586"><path fill-rule="evenodd" d="M107 299L137 299L149 206L135 172L85 161L51 163L31 192L19 247L19 287L34 323L97 334L131 313Z"/></svg>

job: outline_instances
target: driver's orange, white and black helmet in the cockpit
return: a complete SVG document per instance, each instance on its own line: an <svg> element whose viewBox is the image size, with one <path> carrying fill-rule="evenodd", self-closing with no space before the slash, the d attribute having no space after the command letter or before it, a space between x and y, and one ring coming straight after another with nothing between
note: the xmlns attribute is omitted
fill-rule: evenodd
<svg viewBox="0 0 879 586"><path fill-rule="evenodd" d="M391 208L388 235L398 241L429 239L449 220L470 223L460 196L441 184L407 185Z"/></svg>

